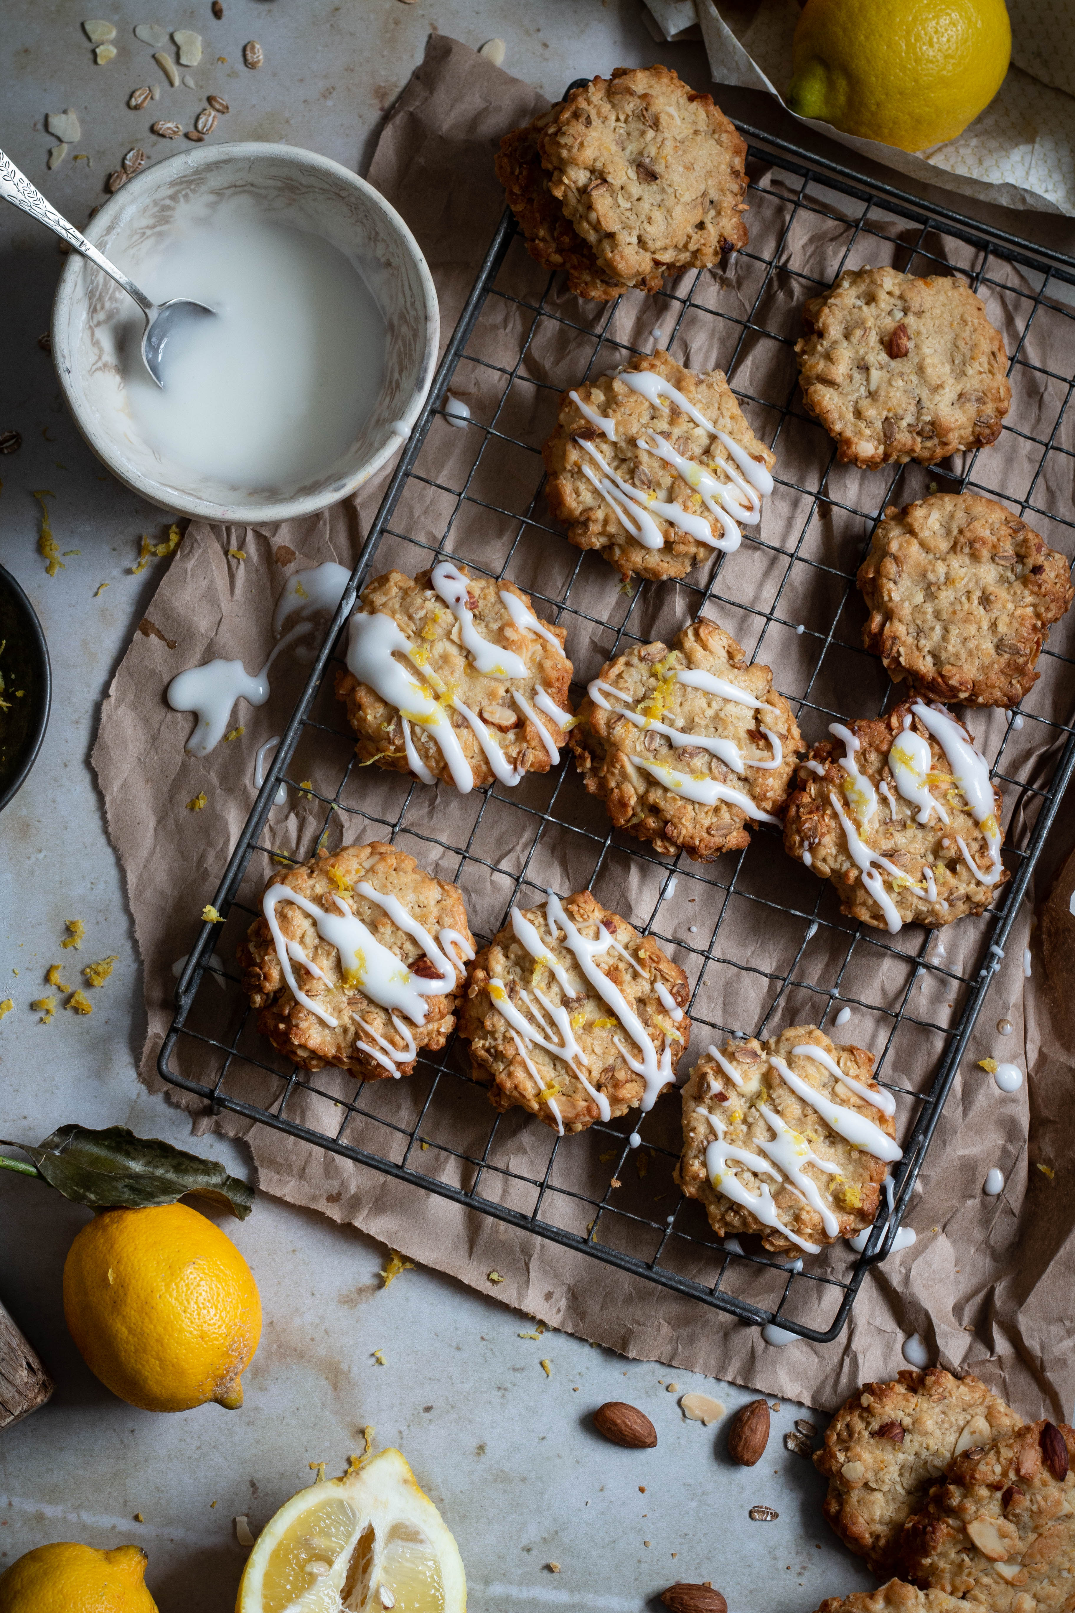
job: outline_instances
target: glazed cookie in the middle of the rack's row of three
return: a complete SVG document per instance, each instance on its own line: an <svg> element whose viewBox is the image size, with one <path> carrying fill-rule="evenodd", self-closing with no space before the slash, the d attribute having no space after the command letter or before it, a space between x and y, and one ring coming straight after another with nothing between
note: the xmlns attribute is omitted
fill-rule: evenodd
<svg viewBox="0 0 1075 1613"><path fill-rule="evenodd" d="M569 734L587 790L617 829L711 861L774 823L803 739L772 673L712 621L606 661Z"/></svg>

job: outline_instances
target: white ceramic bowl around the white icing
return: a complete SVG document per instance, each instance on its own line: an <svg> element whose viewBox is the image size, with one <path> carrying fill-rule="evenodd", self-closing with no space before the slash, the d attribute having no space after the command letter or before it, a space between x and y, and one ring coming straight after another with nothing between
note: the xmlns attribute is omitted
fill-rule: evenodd
<svg viewBox="0 0 1075 1613"><path fill-rule="evenodd" d="M161 237L177 223L205 224L221 203L237 197L253 203L258 215L332 242L359 269L385 318L385 377L377 403L334 465L301 484L235 487L153 448L127 410L111 340L114 324L134 305L77 252L56 287L52 352L79 431L134 492L205 521L284 521L345 498L400 448L434 377L437 292L414 235L372 185L327 156L288 145L243 142L184 150L135 174L105 202L85 234L137 282L139 266L153 258Z"/></svg>

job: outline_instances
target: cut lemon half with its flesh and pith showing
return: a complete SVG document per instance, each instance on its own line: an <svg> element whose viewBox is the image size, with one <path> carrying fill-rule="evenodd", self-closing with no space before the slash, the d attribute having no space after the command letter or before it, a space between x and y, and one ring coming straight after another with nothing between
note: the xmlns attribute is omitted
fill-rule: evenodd
<svg viewBox="0 0 1075 1613"><path fill-rule="evenodd" d="M250 1553L235 1613L466 1613L463 1558L398 1450L292 1495Z"/></svg>

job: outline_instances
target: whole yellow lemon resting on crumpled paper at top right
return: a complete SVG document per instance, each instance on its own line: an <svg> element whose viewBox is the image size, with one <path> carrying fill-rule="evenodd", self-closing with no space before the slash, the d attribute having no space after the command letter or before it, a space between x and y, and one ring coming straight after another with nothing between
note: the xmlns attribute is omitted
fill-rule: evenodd
<svg viewBox="0 0 1075 1613"><path fill-rule="evenodd" d="M920 152L973 123L1011 55L1004 0L806 0L788 106Z"/></svg>

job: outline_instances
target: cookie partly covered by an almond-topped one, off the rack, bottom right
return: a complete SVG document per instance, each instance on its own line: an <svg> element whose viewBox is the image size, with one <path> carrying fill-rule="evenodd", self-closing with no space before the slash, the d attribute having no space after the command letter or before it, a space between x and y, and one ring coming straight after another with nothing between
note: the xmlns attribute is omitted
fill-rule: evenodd
<svg viewBox="0 0 1075 1613"><path fill-rule="evenodd" d="M1022 1428L977 1378L940 1366L862 1384L825 1429L814 1466L828 1479L825 1519L875 1574L893 1571L899 1531L953 1457Z"/></svg>

